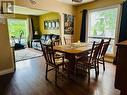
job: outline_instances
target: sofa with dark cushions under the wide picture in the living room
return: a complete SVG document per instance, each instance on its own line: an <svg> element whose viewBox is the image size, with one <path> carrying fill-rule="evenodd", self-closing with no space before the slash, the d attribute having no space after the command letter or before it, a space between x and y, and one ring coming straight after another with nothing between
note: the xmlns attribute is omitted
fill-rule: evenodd
<svg viewBox="0 0 127 95"><path fill-rule="evenodd" d="M31 48L42 50L41 43L47 43L49 40L57 40L59 37L60 36L56 34L43 34L39 39L33 39L31 41Z"/></svg>

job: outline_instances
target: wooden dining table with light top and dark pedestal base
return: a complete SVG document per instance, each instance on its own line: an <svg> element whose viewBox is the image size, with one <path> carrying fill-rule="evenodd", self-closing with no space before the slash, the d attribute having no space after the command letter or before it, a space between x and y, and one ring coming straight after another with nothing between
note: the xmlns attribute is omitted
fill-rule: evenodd
<svg viewBox="0 0 127 95"><path fill-rule="evenodd" d="M69 60L69 68L71 71L75 71L75 66L77 62L77 56L81 54L88 54L92 49L91 43L76 42L68 45L58 45L54 46L53 49L56 52L64 53L65 58Z"/></svg>

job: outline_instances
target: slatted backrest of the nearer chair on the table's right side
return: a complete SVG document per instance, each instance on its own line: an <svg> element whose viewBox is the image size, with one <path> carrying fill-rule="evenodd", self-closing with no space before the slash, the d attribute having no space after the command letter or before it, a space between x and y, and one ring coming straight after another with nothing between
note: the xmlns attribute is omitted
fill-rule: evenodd
<svg viewBox="0 0 127 95"><path fill-rule="evenodd" d="M104 40L102 40L99 44L96 44L95 41L93 42L89 63L93 63L94 61L98 59L100 55L100 51L102 49L103 42Z"/></svg>

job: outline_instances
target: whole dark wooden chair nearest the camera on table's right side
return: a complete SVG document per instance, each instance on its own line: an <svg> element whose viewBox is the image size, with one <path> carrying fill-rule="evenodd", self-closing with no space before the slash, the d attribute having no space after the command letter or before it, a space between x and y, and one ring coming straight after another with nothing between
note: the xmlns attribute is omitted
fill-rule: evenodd
<svg viewBox="0 0 127 95"><path fill-rule="evenodd" d="M102 48L102 45L103 45L103 40L99 44L96 44L96 42L94 41L89 56L88 57L85 56L84 58L81 58L77 61L77 65L79 64L80 66L82 66L83 71L87 70L88 83L90 83L91 69L95 70L96 79L99 75L98 56L99 56L99 51Z"/></svg>

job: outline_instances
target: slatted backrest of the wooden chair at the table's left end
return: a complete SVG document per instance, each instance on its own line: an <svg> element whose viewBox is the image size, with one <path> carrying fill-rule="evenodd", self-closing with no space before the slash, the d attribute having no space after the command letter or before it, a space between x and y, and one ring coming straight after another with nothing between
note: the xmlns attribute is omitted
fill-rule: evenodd
<svg viewBox="0 0 127 95"><path fill-rule="evenodd" d="M55 52L53 50L53 45L42 44L42 51L43 51L46 63L50 65L55 65L55 57L54 57Z"/></svg>

